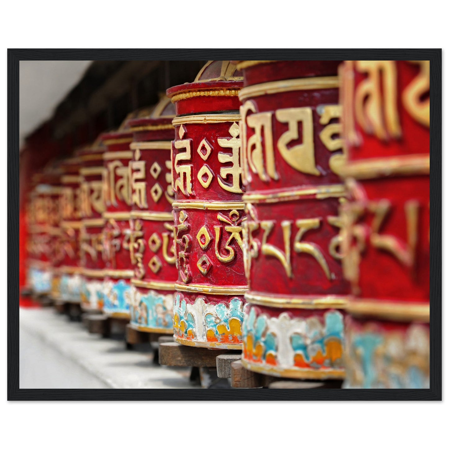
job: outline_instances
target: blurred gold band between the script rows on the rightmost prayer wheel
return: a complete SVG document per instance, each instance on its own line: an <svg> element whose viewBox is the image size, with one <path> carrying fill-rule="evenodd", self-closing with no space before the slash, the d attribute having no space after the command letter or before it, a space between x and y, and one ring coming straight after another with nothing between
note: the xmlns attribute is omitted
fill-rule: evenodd
<svg viewBox="0 0 449 449"><path fill-rule="evenodd" d="M370 179L383 176L428 175L429 173L430 156L418 154L348 162L342 167L341 174L355 179Z"/></svg>

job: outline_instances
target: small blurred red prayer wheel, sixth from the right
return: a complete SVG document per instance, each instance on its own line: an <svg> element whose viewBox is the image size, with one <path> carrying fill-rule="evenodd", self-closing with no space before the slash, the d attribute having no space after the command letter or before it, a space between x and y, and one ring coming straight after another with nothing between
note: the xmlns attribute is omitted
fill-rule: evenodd
<svg viewBox="0 0 449 449"><path fill-rule="evenodd" d="M95 142L80 151L78 157L82 167L80 176L79 257L83 288L81 307L84 310L101 310L104 303L105 255L103 248L103 227L101 214L106 209L106 169L103 167L103 153L106 147Z"/></svg>

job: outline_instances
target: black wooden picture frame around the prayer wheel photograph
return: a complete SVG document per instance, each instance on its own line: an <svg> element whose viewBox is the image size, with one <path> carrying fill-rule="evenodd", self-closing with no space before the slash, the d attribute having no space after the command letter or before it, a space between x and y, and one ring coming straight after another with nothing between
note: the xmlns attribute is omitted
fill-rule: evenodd
<svg viewBox="0 0 449 449"><path fill-rule="evenodd" d="M8 400L15 401L431 401L441 400L441 49L9 49ZM430 60L429 389L21 389L19 388L19 61Z"/></svg>

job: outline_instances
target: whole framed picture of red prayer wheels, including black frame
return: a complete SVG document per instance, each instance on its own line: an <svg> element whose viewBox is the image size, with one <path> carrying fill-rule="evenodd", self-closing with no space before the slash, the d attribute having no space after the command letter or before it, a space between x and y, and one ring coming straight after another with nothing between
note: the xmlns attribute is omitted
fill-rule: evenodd
<svg viewBox="0 0 449 449"><path fill-rule="evenodd" d="M9 399L441 400L440 49L8 52Z"/></svg>

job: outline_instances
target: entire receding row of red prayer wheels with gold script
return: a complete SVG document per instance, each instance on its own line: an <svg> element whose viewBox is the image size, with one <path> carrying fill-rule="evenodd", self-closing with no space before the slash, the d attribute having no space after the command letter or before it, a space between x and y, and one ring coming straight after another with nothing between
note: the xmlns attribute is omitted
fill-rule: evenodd
<svg viewBox="0 0 449 449"><path fill-rule="evenodd" d="M425 61L210 61L35 188L31 286L248 370L426 387L428 91Z"/></svg>

